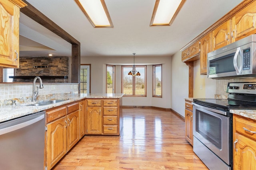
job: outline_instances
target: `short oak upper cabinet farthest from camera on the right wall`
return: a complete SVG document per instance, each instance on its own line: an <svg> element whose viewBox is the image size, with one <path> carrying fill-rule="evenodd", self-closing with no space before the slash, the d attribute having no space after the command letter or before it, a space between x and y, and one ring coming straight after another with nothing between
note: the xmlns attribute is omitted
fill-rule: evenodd
<svg viewBox="0 0 256 170"><path fill-rule="evenodd" d="M196 61L200 59L200 40L193 43L190 47L187 49L184 49L181 52L181 60L184 61Z"/></svg>

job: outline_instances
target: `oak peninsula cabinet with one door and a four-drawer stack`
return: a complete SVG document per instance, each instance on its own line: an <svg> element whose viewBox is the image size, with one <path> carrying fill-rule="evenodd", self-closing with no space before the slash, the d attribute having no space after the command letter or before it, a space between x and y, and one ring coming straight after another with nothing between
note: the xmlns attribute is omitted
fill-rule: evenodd
<svg viewBox="0 0 256 170"><path fill-rule="evenodd" d="M122 98L86 99L86 134L120 135Z"/></svg>

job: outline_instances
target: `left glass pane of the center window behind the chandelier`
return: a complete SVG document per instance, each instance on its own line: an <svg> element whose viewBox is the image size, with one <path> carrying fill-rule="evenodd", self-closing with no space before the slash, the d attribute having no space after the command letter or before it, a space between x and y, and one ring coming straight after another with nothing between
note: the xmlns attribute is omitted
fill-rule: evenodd
<svg viewBox="0 0 256 170"><path fill-rule="evenodd" d="M132 95L132 76L128 75L132 67L124 67L123 69L123 94Z"/></svg>

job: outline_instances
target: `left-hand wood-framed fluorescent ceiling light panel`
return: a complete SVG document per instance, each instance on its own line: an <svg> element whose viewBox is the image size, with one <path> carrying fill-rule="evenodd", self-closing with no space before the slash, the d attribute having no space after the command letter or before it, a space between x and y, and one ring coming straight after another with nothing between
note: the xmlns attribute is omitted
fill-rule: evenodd
<svg viewBox="0 0 256 170"><path fill-rule="evenodd" d="M113 27L104 0L74 0L94 27Z"/></svg>

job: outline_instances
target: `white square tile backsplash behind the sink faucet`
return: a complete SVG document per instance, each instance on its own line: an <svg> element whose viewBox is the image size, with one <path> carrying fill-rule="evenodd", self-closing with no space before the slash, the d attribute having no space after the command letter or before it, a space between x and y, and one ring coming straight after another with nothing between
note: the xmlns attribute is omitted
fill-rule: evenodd
<svg viewBox="0 0 256 170"><path fill-rule="evenodd" d="M37 83L36 86L39 84ZM44 83L44 88L38 90L38 96L59 93L78 94L78 88L78 83ZM31 97L32 90L32 83L0 84L0 100Z"/></svg>

